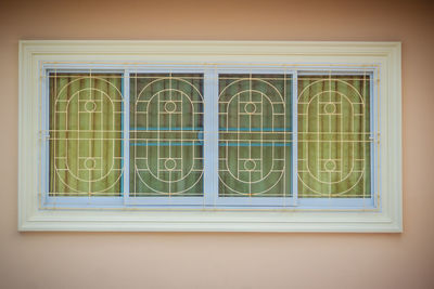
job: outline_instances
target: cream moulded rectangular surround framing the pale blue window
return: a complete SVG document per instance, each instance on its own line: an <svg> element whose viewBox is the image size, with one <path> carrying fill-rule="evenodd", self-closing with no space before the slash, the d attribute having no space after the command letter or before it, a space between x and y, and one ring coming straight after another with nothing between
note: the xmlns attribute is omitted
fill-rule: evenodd
<svg viewBox="0 0 434 289"><path fill-rule="evenodd" d="M375 67L375 109L380 132L381 206L350 211L327 206L282 210L110 210L41 208L40 134L44 113L47 64L82 65L165 63L252 66ZM308 70L307 69L307 70ZM399 42L259 42L259 41L21 41L20 42L20 231L212 231L212 232L401 232L401 89ZM381 140L381 141L380 141ZM327 200L323 200L327 201Z"/></svg>

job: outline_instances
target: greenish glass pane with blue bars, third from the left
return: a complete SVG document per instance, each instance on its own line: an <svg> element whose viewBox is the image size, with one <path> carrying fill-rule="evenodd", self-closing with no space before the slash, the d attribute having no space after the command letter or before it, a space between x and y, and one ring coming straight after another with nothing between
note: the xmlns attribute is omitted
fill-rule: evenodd
<svg viewBox="0 0 434 289"><path fill-rule="evenodd" d="M218 78L219 197L290 197L292 78Z"/></svg>

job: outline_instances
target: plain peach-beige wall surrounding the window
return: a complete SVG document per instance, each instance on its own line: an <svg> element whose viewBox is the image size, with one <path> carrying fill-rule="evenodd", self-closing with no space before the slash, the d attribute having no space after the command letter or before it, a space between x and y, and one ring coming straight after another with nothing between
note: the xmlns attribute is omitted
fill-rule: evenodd
<svg viewBox="0 0 434 289"><path fill-rule="evenodd" d="M0 1L0 288L434 288L433 4L60 2ZM404 234L20 234L18 39L403 41Z"/></svg>

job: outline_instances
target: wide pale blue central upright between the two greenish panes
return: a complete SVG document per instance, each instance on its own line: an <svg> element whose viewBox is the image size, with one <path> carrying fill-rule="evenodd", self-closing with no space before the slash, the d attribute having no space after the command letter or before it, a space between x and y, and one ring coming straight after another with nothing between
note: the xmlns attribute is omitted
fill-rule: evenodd
<svg viewBox="0 0 434 289"><path fill-rule="evenodd" d="M214 70L204 73L204 206L218 197L218 97Z"/></svg>

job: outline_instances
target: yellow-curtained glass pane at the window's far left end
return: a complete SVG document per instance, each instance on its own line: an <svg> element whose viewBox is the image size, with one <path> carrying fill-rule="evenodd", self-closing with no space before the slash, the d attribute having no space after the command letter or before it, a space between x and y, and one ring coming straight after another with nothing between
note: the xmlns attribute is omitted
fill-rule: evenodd
<svg viewBox="0 0 434 289"><path fill-rule="evenodd" d="M49 74L49 195L119 196L123 76Z"/></svg>

